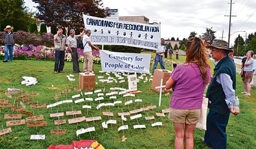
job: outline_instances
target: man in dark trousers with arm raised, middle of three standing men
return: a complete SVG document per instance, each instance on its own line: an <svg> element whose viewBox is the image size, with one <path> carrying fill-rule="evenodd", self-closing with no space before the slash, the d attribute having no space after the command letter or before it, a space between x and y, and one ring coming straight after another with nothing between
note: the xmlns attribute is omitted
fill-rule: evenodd
<svg viewBox="0 0 256 149"><path fill-rule="evenodd" d="M67 47L71 52L71 58L73 62L73 72L74 73L80 73L81 71L79 70L79 61L78 61L78 52L77 52L77 39L78 37L81 37L84 33L86 28L83 29L82 33L80 35L75 35L75 30L71 29L69 31L69 36L67 38Z"/></svg>

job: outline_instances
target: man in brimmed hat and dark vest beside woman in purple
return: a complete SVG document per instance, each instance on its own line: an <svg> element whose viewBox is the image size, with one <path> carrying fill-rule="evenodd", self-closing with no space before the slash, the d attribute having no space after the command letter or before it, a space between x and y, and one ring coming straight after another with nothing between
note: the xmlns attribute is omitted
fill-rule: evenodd
<svg viewBox="0 0 256 149"><path fill-rule="evenodd" d="M206 131L202 141L212 148L226 148L226 126L230 112L234 111L236 89L236 66L228 56L233 49L228 48L224 40L214 39L210 48L213 59L216 60L214 74L206 92L209 99L209 113L206 119Z"/></svg>

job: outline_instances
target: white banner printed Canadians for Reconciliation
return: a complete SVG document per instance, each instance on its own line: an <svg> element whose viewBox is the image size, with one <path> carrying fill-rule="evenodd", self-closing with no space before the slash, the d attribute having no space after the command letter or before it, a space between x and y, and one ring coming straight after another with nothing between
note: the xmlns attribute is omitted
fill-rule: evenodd
<svg viewBox="0 0 256 149"><path fill-rule="evenodd" d="M160 50L160 24L142 24L107 20L83 15L84 26L92 31L90 39L96 45L124 45Z"/></svg>

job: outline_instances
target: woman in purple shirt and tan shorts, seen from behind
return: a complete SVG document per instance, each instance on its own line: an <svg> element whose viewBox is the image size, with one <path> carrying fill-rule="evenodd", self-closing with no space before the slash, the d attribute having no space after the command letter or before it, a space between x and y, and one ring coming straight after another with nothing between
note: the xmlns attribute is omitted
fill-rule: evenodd
<svg viewBox="0 0 256 149"><path fill-rule="evenodd" d="M198 37L186 45L186 62L176 66L166 83L166 89L175 86L170 100L169 120L175 129L175 148L194 148L194 129L201 115L203 92L210 82L208 53ZM185 127L185 130L184 130Z"/></svg>

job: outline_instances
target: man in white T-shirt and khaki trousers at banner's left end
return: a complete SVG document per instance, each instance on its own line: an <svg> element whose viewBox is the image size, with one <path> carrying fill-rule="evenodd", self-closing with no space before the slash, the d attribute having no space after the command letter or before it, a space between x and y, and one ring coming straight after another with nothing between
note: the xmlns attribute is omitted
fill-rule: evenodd
<svg viewBox="0 0 256 149"><path fill-rule="evenodd" d="M83 53L84 53L84 62L83 62L83 72L92 72L92 47L96 50L100 50L98 47L94 46L91 43L90 35L91 30L86 30L86 34L83 36Z"/></svg>

